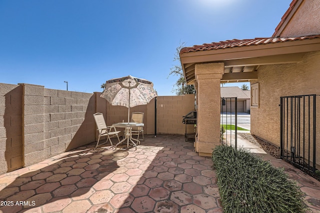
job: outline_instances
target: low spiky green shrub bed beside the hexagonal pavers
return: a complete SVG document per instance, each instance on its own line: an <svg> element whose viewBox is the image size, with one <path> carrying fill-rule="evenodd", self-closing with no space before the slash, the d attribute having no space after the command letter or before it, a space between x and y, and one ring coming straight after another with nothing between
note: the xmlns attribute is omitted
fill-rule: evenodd
<svg viewBox="0 0 320 213"><path fill-rule="evenodd" d="M212 152L224 212L304 212L303 193L283 168L244 149L218 145Z"/></svg>

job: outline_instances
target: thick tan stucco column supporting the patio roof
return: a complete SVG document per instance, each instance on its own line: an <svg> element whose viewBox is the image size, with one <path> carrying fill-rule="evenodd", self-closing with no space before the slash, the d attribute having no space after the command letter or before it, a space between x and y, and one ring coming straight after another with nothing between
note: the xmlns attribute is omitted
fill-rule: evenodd
<svg viewBox="0 0 320 213"><path fill-rule="evenodd" d="M224 63L195 64L197 82L197 137L195 151L211 156L212 148L220 144L220 79Z"/></svg>

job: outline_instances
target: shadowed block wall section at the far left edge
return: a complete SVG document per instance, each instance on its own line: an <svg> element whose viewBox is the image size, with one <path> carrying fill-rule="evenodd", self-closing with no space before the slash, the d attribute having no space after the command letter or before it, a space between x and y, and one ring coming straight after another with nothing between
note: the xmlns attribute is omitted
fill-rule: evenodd
<svg viewBox="0 0 320 213"><path fill-rule="evenodd" d="M0 83L0 173L22 167L22 86Z"/></svg>

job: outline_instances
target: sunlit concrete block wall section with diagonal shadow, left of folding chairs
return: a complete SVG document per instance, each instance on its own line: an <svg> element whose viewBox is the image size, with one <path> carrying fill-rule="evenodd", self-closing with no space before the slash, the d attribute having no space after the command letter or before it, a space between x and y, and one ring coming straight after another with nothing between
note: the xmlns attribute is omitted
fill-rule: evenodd
<svg viewBox="0 0 320 213"><path fill-rule="evenodd" d="M95 95L44 89L44 153L49 157L95 140Z"/></svg>

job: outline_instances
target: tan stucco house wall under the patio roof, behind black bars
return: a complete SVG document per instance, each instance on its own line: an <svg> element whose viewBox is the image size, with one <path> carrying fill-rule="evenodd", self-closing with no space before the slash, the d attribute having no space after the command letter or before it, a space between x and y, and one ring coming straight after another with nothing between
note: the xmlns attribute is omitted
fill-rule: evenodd
<svg viewBox="0 0 320 213"><path fill-rule="evenodd" d="M275 145L280 145L280 96L320 94L320 52L304 55L303 61L292 64L264 65L258 69L259 107L251 107L251 133ZM320 98L317 98L320 107ZM320 122L320 110L317 110ZM318 123L319 125L320 123ZM317 131L320 147L320 131ZM320 156L317 148L316 155ZM320 164L320 157L317 157Z"/></svg>

